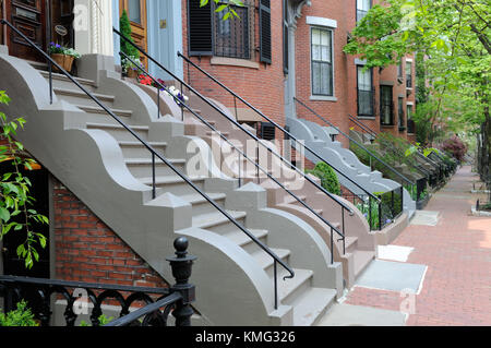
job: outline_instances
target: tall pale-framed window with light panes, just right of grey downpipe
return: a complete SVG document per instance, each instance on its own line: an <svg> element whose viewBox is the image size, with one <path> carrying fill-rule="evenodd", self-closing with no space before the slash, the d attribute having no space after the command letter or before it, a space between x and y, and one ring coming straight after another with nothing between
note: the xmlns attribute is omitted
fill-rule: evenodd
<svg viewBox="0 0 491 348"><path fill-rule="evenodd" d="M312 28L312 95L334 96L332 43L332 31L316 27Z"/></svg>

